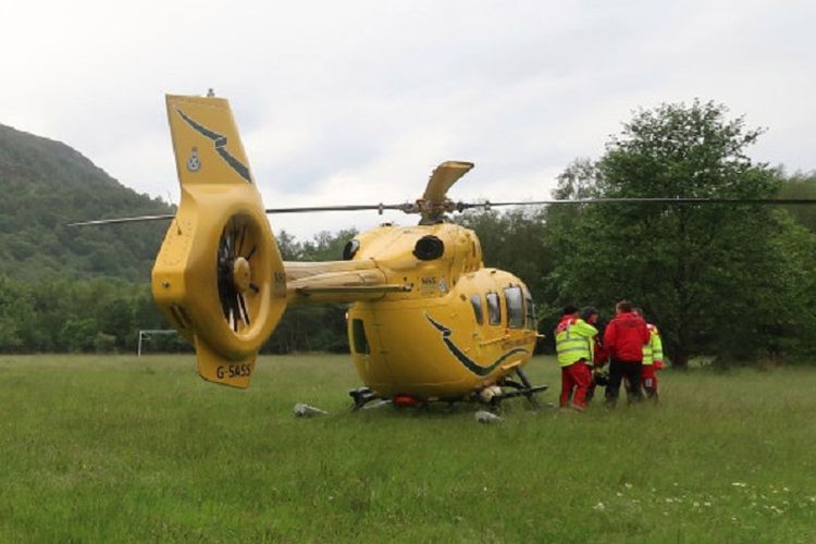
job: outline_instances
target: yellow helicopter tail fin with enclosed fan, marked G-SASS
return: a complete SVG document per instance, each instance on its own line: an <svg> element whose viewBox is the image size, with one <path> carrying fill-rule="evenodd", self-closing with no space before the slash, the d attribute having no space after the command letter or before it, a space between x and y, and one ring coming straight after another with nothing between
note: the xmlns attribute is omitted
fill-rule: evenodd
<svg viewBox="0 0 816 544"><path fill-rule="evenodd" d="M247 387L286 307L286 275L230 103L168 96L182 199L152 292L205 380Z"/></svg>

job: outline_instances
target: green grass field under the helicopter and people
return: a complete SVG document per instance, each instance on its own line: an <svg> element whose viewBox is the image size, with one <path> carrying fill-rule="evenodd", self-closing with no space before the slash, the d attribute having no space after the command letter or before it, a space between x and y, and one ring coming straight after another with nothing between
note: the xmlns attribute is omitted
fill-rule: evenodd
<svg viewBox="0 0 816 544"><path fill-rule="evenodd" d="M529 374L554 400L553 360ZM659 406L480 425L350 413L347 357L263 358L245 392L186 356L2 357L0 541L816 541L816 369L662 380Z"/></svg>

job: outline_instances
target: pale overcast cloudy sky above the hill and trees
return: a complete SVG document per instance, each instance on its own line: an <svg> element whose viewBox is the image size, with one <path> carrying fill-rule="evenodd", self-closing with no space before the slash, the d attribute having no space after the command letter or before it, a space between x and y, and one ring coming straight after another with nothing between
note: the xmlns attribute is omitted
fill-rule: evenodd
<svg viewBox="0 0 816 544"><path fill-rule="evenodd" d="M631 111L695 97L816 169L816 2L4 1L0 123L177 202L163 95L231 100L268 207L547 198ZM270 218L298 237L376 214ZM385 218L409 224L416 218Z"/></svg>

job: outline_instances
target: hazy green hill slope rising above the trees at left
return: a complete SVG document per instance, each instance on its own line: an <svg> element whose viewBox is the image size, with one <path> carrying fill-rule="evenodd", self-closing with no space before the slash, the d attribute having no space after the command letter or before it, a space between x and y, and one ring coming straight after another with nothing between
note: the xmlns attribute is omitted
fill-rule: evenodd
<svg viewBox="0 0 816 544"><path fill-rule="evenodd" d="M0 275L37 282L147 281L166 225L67 227L77 219L168 213L60 141L0 125Z"/></svg>

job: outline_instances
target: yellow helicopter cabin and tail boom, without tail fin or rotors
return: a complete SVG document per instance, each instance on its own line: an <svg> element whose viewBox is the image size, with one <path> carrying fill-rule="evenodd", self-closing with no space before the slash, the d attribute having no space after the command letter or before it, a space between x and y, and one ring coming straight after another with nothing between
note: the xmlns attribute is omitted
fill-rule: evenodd
<svg viewBox="0 0 816 544"><path fill-rule="evenodd" d="M417 256L417 243L426 237L442 243L438 257ZM375 393L461 398L532 356L535 320L527 287L508 272L483 268L472 231L386 225L356 242L359 249L347 261L287 262L285 270L292 304L354 302L351 356Z"/></svg>

